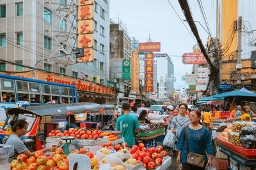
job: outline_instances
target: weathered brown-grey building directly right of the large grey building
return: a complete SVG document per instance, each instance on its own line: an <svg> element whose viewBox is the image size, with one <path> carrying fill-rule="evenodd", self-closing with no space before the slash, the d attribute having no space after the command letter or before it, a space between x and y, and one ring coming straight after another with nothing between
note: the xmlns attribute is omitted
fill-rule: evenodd
<svg viewBox="0 0 256 170"><path fill-rule="evenodd" d="M110 20L110 80L116 82L120 89L117 103L135 103L136 95L131 94L131 80L122 79L123 60L132 59L131 38L125 25L118 19L117 22Z"/></svg>

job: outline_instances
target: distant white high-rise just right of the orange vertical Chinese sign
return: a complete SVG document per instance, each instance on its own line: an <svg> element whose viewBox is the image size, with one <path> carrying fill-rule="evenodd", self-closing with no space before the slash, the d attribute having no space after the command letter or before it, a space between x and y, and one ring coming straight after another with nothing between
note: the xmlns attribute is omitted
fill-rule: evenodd
<svg viewBox="0 0 256 170"><path fill-rule="evenodd" d="M166 97L173 97L173 81L168 81L168 78L174 76L174 65L172 63L172 59L167 53L154 53L154 68L155 65L157 67L156 81L159 82L159 100L161 101ZM162 83L164 85L164 90L162 89ZM157 89L156 83L154 84L154 89Z"/></svg>

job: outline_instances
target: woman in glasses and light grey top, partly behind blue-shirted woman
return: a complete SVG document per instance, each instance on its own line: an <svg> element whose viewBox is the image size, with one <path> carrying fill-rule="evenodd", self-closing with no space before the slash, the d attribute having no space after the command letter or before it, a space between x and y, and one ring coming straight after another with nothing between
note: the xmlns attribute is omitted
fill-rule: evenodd
<svg viewBox="0 0 256 170"><path fill-rule="evenodd" d="M183 127L186 127L186 125L189 125L189 117L186 115L188 111L188 106L185 103L182 103L179 105L179 115L174 117L172 119L172 123L170 124L171 131L173 134L175 134L176 138L179 139L180 137L180 132L182 131ZM176 151L177 154L177 148L176 148L177 143L175 143L175 146L173 150ZM179 167L177 168L178 170L182 169L182 165L179 164Z"/></svg>

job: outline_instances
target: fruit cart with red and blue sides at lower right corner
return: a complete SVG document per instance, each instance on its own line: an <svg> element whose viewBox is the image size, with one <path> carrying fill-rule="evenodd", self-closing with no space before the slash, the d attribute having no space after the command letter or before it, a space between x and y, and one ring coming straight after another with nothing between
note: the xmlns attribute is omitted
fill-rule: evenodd
<svg viewBox="0 0 256 170"><path fill-rule="evenodd" d="M217 129L217 157L228 159L232 170L256 168L256 123L234 122L221 124Z"/></svg>

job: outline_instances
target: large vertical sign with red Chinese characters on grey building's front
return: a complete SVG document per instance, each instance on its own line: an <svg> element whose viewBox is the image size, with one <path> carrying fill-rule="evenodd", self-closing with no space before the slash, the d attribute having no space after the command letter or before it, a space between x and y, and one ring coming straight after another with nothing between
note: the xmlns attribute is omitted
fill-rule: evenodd
<svg viewBox="0 0 256 170"><path fill-rule="evenodd" d="M94 60L94 0L78 0L78 48L84 48L84 57L77 58L78 62L93 62Z"/></svg>

